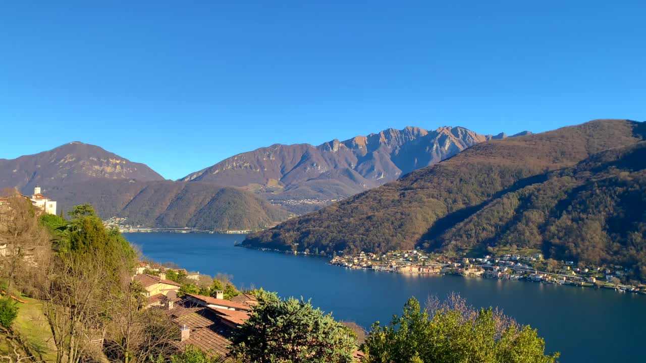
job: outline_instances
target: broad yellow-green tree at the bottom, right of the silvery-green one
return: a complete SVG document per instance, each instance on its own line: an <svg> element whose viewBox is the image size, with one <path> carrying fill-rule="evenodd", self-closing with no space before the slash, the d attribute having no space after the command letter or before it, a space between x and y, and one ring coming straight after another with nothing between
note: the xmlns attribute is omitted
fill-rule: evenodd
<svg viewBox="0 0 646 363"><path fill-rule="evenodd" d="M545 355L536 330L492 308L475 310L457 295L430 300L426 309L410 298L390 324L373 324L364 347L365 363L554 363L559 356Z"/></svg>

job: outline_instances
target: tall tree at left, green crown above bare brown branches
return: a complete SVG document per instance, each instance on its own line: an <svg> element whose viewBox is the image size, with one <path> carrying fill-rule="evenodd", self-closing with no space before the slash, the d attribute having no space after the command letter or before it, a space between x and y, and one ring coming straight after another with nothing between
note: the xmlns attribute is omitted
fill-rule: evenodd
<svg viewBox="0 0 646 363"><path fill-rule="evenodd" d="M56 346L56 363L101 360L101 344L121 314L136 254L118 229L106 229L90 205L74 207L56 255L42 266L43 314ZM125 297L124 297L125 296ZM122 306L123 307L123 306ZM129 341L129 338L126 338Z"/></svg>

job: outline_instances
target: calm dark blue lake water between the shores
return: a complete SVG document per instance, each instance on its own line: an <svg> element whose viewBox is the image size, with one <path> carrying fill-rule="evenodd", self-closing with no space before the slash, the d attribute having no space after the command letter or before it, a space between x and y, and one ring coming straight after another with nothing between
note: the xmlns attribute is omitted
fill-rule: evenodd
<svg viewBox="0 0 646 363"><path fill-rule="evenodd" d="M326 259L234 247L240 234L125 233L145 256L207 275L233 275L238 287L311 298L340 320L390 322L410 296L421 302L455 291L476 307L498 306L545 338L561 362L646 362L646 296L523 281L415 276L349 270Z"/></svg>

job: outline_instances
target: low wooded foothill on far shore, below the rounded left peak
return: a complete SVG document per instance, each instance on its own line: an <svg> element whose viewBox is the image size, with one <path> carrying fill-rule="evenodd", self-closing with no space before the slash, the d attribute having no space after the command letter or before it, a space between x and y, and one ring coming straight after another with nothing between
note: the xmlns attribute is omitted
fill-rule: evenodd
<svg viewBox="0 0 646 363"><path fill-rule="evenodd" d="M145 227L257 230L289 216L251 192L202 182L96 179L55 187L48 195L65 211L91 203L101 218L126 217Z"/></svg>

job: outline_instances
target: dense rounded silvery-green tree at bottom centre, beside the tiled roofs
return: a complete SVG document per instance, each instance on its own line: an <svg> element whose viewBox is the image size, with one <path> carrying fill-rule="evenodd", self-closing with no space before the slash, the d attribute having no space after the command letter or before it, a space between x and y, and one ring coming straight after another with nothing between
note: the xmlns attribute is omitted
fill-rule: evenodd
<svg viewBox="0 0 646 363"><path fill-rule="evenodd" d="M242 363L352 362L349 329L303 299L264 291L249 319L233 332L229 355Z"/></svg>

